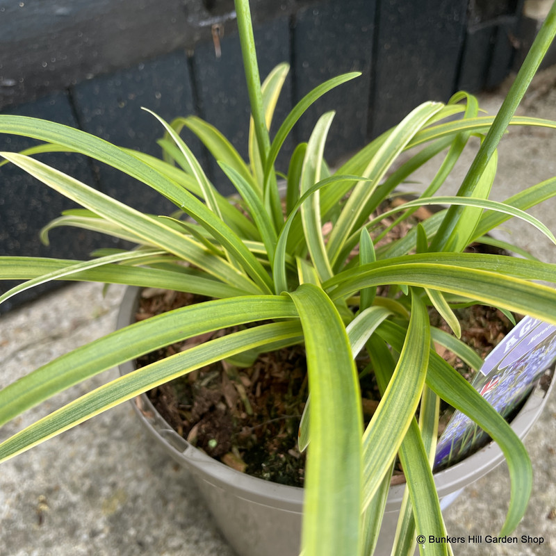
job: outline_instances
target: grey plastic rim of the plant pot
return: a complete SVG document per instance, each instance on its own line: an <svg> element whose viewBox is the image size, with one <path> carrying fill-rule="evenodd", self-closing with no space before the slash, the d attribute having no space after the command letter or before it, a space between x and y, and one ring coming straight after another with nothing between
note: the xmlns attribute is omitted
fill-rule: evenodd
<svg viewBox="0 0 556 556"><path fill-rule="evenodd" d="M125 327L133 322L132 317L138 304L138 293L142 288L128 286L122 298L120 311L117 314L117 328ZM133 361L126 361L119 366L120 375L126 375L135 370ZM550 368L554 375L554 365ZM553 376L552 375L552 376ZM550 381L548 389L543 390L537 384L523 407L512 420L512 430L523 440L541 414L548 396L554 387L554 380ZM278 504L283 509L300 512L303 501L303 489L299 486L288 486L266 481L241 473L222 464L222 462L206 455L186 439L179 436L172 427L166 423L146 394L140 395L140 402L131 400L133 409L140 416L142 424L158 441L160 441L170 455L183 466L190 469L195 475L220 487L234 489L236 496L261 504ZM469 457L459 463L434 473L434 482L439 498L459 491L489 473L503 461L504 455L498 444L491 441ZM386 511L399 507L404 493L405 483L391 485L386 502Z"/></svg>

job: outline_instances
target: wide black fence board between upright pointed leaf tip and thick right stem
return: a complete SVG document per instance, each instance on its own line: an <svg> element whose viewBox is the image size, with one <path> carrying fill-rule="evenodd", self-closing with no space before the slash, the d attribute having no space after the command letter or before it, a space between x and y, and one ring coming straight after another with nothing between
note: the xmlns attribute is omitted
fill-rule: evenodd
<svg viewBox="0 0 556 556"><path fill-rule="evenodd" d="M467 1L380 0L371 135L455 92Z"/></svg>

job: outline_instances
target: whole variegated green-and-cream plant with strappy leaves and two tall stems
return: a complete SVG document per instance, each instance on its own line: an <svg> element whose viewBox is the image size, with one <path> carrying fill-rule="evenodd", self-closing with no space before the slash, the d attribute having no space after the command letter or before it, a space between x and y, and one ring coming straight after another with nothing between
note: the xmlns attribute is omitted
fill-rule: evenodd
<svg viewBox="0 0 556 556"><path fill-rule="evenodd" d="M124 361L205 332L240 326L238 332L132 370L54 411L1 443L0 460L211 361L240 354L254 357L302 343L310 391L299 441L300 448L308 446L305 555L373 550L398 453L409 498L400 518L397 553L413 550L421 534L447 537L431 470L439 398L471 416L506 457L512 493L501 534L508 534L528 502L532 470L527 452L496 410L431 350L434 339L462 359L474 360L457 338L431 327L427 306L434 306L456 335L459 324L452 308L461 302L489 304L556 325L556 291L533 281L554 281L554 265L464 252L471 243L486 241L486 233L512 217L527 220L555 241L541 222L524 212L555 195L555 181L525 189L504 203L489 200L489 191L496 173L496 147L507 125L556 126L514 117L556 33L556 8L496 117L478 116L476 99L466 93L445 105L422 104L331 173L323 152L334 114L322 115L309 141L293 153L284 202L275 161L286 136L313 101L356 75L339 76L309 93L271 142L268 128L287 67L277 67L261 86L247 0L236 0L236 12L252 106L249 165L216 129L197 118L167 124L154 115L165 129L164 159L158 160L52 122L0 116L1 133L44 141L27 152L1 156L83 206L51 222L45 235L52 227L70 225L137 244L132 250L96 252L90 261L2 257L0 277L26 281L0 301L51 279L124 283L211 297L126 326L10 384L0 391L0 423ZM215 155L239 200L225 199L213 188L179 136L184 125ZM435 196L472 135L480 136L481 146L458 195ZM421 148L389 174L398 156L412 147ZM147 183L170 199L177 212L171 217L140 213L31 156L60 149L92 156ZM419 206L450 208L416 224L403 238L375 248L376 227L384 218L372 216L375 208L435 155L443 156L441 167L425 193L388 214L403 221ZM324 227L327 222L330 225ZM383 232L379 229L379 238ZM389 286L388 295L377 295L379 286ZM251 323L256 324L243 327ZM382 392L364 432L354 363L361 350L368 353ZM187 443L181 448L188 450ZM193 457L204 467L221 465L201 452ZM445 542L425 543L423 550L446 554L450 548Z"/></svg>

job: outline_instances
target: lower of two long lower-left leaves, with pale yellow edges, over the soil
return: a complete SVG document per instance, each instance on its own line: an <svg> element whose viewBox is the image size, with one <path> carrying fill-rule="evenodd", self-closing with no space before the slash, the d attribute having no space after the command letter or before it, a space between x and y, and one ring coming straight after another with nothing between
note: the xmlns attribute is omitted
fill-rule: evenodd
<svg viewBox="0 0 556 556"><path fill-rule="evenodd" d="M0 444L0 462L79 423L192 370L245 350L299 336L298 322L275 322L216 338L108 382L44 417Z"/></svg>

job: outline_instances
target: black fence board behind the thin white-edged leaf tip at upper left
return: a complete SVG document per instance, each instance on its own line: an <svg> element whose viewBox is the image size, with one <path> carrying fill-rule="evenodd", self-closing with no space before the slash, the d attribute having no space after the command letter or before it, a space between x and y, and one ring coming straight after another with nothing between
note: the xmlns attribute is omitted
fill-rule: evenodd
<svg viewBox="0 0 556 556"><path fill-rule="evenodd" d="M164 134L162 124L142 110L149 108L167 122L194 111L186 54L177 51L141 63L128 70L84 81L74 88L76 113L83 129L115 145L161 156L156 141ZM183 133L196 156L196 138ZM149 213L169 214L174 204L144 183L112 167L95 163L101 190Z"/></svg>

